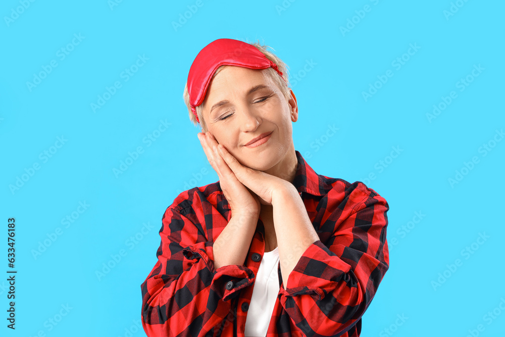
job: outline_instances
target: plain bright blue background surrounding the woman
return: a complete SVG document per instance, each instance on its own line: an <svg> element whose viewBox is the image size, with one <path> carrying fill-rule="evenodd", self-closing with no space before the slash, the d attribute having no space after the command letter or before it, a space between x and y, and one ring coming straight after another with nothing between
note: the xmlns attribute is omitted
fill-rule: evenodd
<svg viewBox="0 0 505 337"><path fill-rule="evenodd" d="M362 335L502 335L503 2L22 3L0 6L0 270L7 275L10 217L18 270L16 331L6 327L7 281L0 281L2 335L145 335L134 321L140 284L157 261L162 215L180 191L218 180L182 93L196 54L223 37L259 40L289 66L299 106L295 149L317 173L364 181L388 201L390 268ZM419 49L408 55L410 44ZM148 60L126 81L121 74L138 55ZM57 67L29 87L52 60ZM393 76L375 83L386 73ZM121 87L93 111L116 81ZM457 97L429 118L451 91ZM170 126L154 132L160 121ZM328 125L338 128L331 137ZM159 137L149 144L153 133ZM137 147L143 153L116 176ZM396 158L388 157L393 147ZM18 177L26 181L12 189ZM82 213L79 202L89 205ZM44 240L51 245L34 255ZM493 309L495 318L485 316ZM67 315L49 324L61 310Z"/></svg>

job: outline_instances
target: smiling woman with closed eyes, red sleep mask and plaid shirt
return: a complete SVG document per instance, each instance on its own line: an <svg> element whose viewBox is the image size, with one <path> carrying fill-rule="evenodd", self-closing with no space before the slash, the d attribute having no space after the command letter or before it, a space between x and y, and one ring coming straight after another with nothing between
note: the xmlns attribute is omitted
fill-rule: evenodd
<svg viewBox="0 0 505 337"><path fill-rule="evenodd" d="M141 285L149 337L360 335L389 267L389 206L295 151L288 85L257 43L218 39L191 65L185 102L219 181L165 212Z"/></svg>

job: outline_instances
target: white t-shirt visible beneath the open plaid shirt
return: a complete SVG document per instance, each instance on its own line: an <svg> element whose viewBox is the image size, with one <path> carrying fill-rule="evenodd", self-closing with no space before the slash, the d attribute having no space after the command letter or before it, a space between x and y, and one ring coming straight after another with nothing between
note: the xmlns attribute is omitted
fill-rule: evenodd
<svg viewBox="0 0 505 337"><path fill-rule="evenodd" d="M245 319L245 337L265 337L279 294L279 246L265 252L252 288L252 297Z"/></svg>

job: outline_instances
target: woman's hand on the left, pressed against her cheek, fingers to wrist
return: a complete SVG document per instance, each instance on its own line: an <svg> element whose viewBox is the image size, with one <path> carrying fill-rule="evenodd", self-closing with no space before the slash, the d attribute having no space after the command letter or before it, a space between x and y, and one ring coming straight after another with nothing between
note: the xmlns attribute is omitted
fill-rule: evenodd
<svg viewBox="0 0 505 337"><path fill-rule="evenodd" d="M197 136L207 160L219 176L219 183L230 204L232 216L241 213L258 218L261 210L260 199L237 179L235 173L217 152L218 142L214 135L207 131L206 133L198 132Z"/></svg>

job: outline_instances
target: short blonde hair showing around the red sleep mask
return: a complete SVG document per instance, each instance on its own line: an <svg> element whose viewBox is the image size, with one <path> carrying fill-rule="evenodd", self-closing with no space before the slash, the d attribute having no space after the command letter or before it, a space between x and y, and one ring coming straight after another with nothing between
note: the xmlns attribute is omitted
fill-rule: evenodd
<svg viewBox="0 0 505 337"><path fill-rule="evenodd" d="M268 74L268 76L270 76L270 78L274 81L274 83L277 85L277 87L281 90L282 94L284 95L284 97L286 98L286 100L289 99L289 95L290 95L290 88L289 88L289 73L288 73L288 66L282 62L281 59L279 59L275 54L273 54L272 52L269 52L267 51L266 47L269 47L268 45L261 45L258 42L247 42L251 45L254 45L260 52L262 52L265 57L267 59L269 59L270 61L272 61L273 63L275 63L277 65L277 67L279 68L279 71L282 72L282 77L285 79L285 81L279 76L279 74L277 73L277 71L275 71L275 69L273 69L272 67L269 67L267 69L265 69L266 73ZM230 66L227 66L227 65L224 65L224 66L220 66L215 72L214 72L214 75L212 76L212 78L214 78L214 76L216 76L223 68L225 67L230 67ZM201 129L204 131L204 132L207 132L207 125L205 124L205 120L204 120L204 117L203 115L201 114L201 105L197 106L196 107L196 114L198 115L198 120L200 121L200 123L198 123L196 121L196 118L195 116L193 115L193 112L191 111L191 106L190 106L190 103L189 103L189 92L188 92L188 83L186 81L186 84L184 85L184 94L183 94L183 97L184 97L184 103L186 104L186 107L188 108L188 112L189 112L189 119L191 120L191 122L195 125L195 126L198 126L198 124L201 126Z"/></svg>

